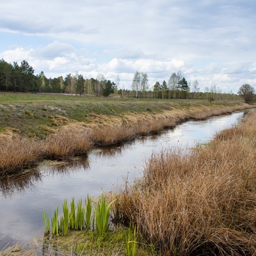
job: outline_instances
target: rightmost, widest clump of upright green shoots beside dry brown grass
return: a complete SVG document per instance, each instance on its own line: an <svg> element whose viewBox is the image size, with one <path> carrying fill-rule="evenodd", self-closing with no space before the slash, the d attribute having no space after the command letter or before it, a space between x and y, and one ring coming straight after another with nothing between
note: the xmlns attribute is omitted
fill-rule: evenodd
<svg viewBox="0 0 256 256"><path fill-rule="evenodd" d="M99 236L102 236L104 233L108 232L109 208L113 202L106 205L105 197L102 194L97 207L94 209L95 217L96 217L96 227L97 227L97 232Z"/></svg>

